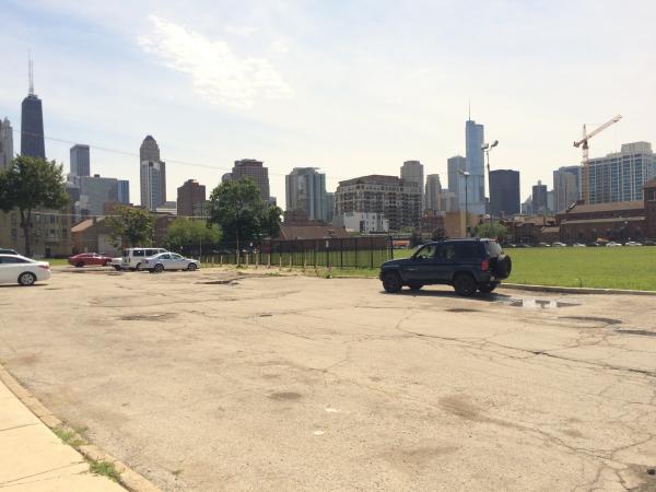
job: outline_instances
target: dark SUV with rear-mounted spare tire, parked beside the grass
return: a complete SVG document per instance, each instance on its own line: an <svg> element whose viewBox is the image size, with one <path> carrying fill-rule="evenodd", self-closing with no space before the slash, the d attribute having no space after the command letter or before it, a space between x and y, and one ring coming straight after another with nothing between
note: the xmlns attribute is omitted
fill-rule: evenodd
<svg viewBox="0 0 656 492"><path fill-rule="evenodd" d="M446 239L421 246L410 258L385 261L379 278L387 292L447 284L458 295L471 295L492 292L511 270L511 257L493 239Z"/></svg>

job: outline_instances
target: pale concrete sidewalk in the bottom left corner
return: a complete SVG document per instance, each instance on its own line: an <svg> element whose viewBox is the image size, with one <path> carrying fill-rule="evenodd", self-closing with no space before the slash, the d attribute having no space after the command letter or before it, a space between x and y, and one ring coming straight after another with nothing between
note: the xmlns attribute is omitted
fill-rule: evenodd
<svg viewBox="0 0 656 492"><path fill-rule="evenodd" d="M2 492L125 492L122 487L110 479L91 473L89 462L82 455L63 444L8 388L3 379L9 378L3 378L2 373L4 370L0 367L0 490ZM11 383L8 384L13 386ZM20 389L22 388L16 390ZM25 396L28 395L24 393ZM27 396L27 398L33 397ZM35 401L35 405L38 402ZM50 415L50 419L54 418Z"/></svg>

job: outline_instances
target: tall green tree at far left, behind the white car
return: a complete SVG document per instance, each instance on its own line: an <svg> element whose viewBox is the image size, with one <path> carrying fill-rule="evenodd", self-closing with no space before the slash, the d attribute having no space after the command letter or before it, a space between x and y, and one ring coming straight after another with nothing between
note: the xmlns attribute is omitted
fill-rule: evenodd
<svg viewBox="0 0 656 492"><path fill-rule="evenodd" d="M19 155L0 172L0 209L19 209L25 256L32 256L30 227L35 209L60 210L68 203L62 166L55 161Z"/></svg>

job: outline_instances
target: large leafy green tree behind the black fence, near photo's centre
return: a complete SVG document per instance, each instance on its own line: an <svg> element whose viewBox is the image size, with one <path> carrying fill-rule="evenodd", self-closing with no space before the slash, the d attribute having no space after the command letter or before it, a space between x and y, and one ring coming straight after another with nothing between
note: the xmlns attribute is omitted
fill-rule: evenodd
<svg viewBox="0 0 656 492"><path fill-rule="evenodd" d="M241 241L278 235L281 214L278 207L265 203L250 178L222 183L210 196L210 223L220 225L223 236L236 242L237 250Z"/></svg>

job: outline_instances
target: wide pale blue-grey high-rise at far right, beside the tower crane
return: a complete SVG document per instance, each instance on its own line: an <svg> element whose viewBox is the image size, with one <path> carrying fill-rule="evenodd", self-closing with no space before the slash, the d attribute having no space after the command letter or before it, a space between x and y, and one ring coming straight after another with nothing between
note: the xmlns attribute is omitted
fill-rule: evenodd
<svg viewBox="0 0 656 492"><path fill-rule="evenodd" d="M589 160L589 202L643 199L643 186L656 177L656 156L648 142L624 143L620 152Z"/></svg>

